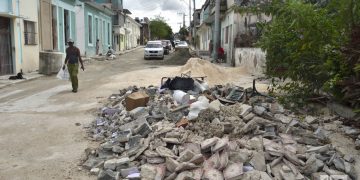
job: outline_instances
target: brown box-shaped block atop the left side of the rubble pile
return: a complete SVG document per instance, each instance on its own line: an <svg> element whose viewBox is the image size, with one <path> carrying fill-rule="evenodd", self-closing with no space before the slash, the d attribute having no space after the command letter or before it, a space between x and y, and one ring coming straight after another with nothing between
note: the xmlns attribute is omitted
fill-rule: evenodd
<svg viewBox="0 0 360 180"><path fill-rule="evenodd" d="M131 111L137 107L145 107L148 102L149 96L146 92L135 92L125 98L125 107L127 111Z"/></svg>

